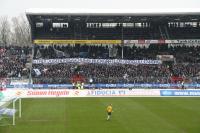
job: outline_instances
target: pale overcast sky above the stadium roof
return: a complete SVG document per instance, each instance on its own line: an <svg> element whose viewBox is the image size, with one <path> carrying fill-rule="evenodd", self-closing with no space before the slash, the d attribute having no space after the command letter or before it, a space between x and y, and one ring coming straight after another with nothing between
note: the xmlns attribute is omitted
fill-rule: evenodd
<svg viewBox="0 0 200 133"><path fill-rule="evenodd" d="M200 0L0 0L0 16L18 16L29 8L200 9Z"/></svg>

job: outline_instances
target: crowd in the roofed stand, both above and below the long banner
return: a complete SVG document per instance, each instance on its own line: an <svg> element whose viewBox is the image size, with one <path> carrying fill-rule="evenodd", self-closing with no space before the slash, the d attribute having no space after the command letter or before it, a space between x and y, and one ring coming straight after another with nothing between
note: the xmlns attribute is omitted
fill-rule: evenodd
<svg viewBox="0 0 200 133"><path fill-rule="evenodd" d="M151 44L148 47L124 46L123 59L151 60L157 55L173 55L169 64L159 65L102 65L82 64L80 74L96 83L170 83L172 76L187 79L187 82L197 82L200 76L200 46L176 46ZM122 47L104 45L55 45L36 46L34 59L57 58L121 58ZM111 56L112 54L112 56ZM114 55L114 56L113 56ZM35 83L70 83L78 64L33 64L33 81Z"/></svg>

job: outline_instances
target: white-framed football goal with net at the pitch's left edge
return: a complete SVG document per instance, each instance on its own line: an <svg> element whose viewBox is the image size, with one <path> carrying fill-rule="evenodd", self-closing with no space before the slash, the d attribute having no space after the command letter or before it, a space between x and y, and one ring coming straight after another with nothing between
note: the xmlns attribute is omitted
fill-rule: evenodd
<svg viewBox="0 0 200 133"><path fill-rule="evenodd" d="M0 126L15 125L17 112L19 118L21 118L21 98L5 98L0 100Z"/></svg>

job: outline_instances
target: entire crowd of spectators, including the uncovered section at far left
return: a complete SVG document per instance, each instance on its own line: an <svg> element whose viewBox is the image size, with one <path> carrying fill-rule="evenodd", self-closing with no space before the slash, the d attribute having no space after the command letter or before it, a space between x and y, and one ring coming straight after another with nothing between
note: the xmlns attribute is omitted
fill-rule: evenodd
<svg viewBox="0 0 200 133"><path fill-rule="evenodd" d="M110 49L114 55L110 56ZM187 82L198 82L200 79L199 46L149 45L148 47L125 46L124 59L156 59L157 55L173 55L174 61L158 65L106 65L106 64L30 64L32 65L33 83L72 83L77 74L85 82L93 79L94 83L171 83L172 77L182 77ZM28 62L31 62L30 47L0 47L0 78L29 78ZM121 47L115 46L36 46L34 59L55 58L121 58ZM78 69L77 69L78 67Z"/></svg>

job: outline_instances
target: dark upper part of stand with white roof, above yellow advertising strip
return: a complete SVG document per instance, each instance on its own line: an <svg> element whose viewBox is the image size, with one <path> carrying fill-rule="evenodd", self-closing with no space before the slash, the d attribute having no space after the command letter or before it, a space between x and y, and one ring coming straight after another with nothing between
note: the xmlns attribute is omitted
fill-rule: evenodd
<svg viewBox="0 0 200 133"><path fill-rule="evenodd" d="M32 39L199 39L200 10L28 10Z"/></svg>

